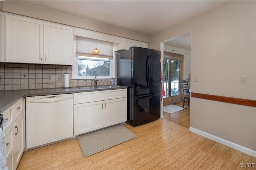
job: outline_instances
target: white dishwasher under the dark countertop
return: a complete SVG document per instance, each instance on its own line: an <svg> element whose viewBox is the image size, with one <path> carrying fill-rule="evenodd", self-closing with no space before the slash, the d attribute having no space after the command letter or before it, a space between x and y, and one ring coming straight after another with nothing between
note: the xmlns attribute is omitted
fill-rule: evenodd
<svg viewBox="0 0 256 170"><path fill-rule="evenodd" d="M73 137L73 94L26 97L26 149Z"/></svg>

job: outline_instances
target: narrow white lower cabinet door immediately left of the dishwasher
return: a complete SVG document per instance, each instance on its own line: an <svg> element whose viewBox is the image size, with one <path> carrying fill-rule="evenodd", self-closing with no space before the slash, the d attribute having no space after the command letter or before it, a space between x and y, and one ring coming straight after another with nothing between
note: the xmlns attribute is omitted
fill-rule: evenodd
<svg viewBox="0 0 256 170"><path fill-rule="evenodd" d="M22 113L20 117L14 122L14 158L15 158L15 168L17 167L20 158L25 149L25 130L24 130L24 114ZM15 169L14 168L14 169Z"/></svg>

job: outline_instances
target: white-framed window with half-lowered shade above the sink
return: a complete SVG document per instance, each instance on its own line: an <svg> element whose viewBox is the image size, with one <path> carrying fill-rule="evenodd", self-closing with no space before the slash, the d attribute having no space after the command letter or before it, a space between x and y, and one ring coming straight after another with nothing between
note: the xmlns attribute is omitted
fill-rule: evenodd
<svg viewBox="0 0 256 170"><path fill-rule="evenodd" d="M92 51L97 48L100 53ZM76 36L76 60L72 79L114 77L114 43Z"/></svg>

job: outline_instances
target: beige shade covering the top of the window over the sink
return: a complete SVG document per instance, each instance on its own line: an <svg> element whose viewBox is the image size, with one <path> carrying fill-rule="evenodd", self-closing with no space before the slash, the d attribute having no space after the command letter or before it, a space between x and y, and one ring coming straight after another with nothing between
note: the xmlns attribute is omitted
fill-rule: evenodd
<svg viewBox="0 0 256 170"><path fill-rule="evenodd" d="M100 53L94 54L92 51L97 48ZM86 37L76 36L76 56L113 58L113 43L96 40Z"/></svg>

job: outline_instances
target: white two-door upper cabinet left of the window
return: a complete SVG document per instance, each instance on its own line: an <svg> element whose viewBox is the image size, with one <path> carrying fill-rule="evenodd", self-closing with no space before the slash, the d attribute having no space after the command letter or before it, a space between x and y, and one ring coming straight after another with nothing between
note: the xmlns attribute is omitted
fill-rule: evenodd
<svg viewBox="0 0 256 170"><path fill-rule="evenodd" d="M2 14L1 14L2 15ZM1 62L73 64L72 27L4 14ZM2 25L5 25L3 27ZM4 54L5 53L5 54Z"/></svg>

